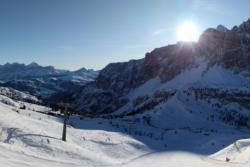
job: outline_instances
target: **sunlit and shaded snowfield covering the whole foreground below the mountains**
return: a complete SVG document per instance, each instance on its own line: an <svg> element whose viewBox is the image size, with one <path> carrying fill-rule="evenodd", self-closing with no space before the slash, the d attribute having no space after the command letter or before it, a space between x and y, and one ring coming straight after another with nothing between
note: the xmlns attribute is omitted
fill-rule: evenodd
<svg viewBox="0 0 250 167"><path fill-rule="evenodd" d="M34 112L49 109L29 103L25 103L26 110L21 110L18 109L21 102L5 97L8 100L12 103L0 102L0 166L250 165L250 140L237 141L250 137L246 129L220 126L215 131L201 132L162 130L126 119L108 121L74 116L69 121L67 142L63 142L60 117Z"/></svg>

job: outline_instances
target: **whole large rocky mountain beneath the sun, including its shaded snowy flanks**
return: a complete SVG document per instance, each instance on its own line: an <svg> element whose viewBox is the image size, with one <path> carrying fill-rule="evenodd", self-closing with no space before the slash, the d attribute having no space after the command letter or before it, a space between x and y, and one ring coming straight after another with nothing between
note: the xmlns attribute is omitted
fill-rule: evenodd
<svg viewBox="0 0 250 167"><path fill-rule="evenodd" d="M206 104L213 119L217 115L222 121L248 126L250 116L241 111L250 113L249 23L232 30L219 25L204 31L197 43L178 42L140 60L109 64L96 81L75 94L78 111L104 117L151 114L153 119L155 112L183 108L200 112L198 106ZM238 108L228 108L234 103Z"/></svg>

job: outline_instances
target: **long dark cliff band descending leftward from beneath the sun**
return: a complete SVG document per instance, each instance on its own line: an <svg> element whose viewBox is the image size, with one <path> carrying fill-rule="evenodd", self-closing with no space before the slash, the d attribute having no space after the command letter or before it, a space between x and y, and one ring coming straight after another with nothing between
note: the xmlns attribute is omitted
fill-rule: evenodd
<svg viewBox="0 0 250 167"><path fill-rule="evenodd" d="M195 43L178 43L158 48L147 53L141 60L109 64L100 71L95 84L98 88L111 89L122 95L157 75L165 82L195 67L196 52Z"/></svg>

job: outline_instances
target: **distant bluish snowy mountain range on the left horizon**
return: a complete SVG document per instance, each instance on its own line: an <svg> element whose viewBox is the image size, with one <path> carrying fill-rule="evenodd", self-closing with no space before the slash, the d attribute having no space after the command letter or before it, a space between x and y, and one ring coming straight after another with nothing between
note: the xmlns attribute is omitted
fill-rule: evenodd
<svg viewBox="0 0 250 167"><path fill-rule="evenodd" d="M47 99L58 92L78 89L93 81L97 74L97 71L85 68L66 71L52 66L43 67L36 63L28 65L7 63L0 65L0 85Z"/></svg>

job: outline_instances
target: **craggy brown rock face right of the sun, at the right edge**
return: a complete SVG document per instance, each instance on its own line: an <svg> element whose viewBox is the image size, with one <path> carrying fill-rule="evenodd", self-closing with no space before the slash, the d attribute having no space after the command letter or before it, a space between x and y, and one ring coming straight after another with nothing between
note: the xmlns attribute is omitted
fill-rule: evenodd
<svg viewBox="0 0 250 167"><path fill-rule="evenodd" d="M222 64L226 68L243 70L249 68L249 44L248 34L215 29L206 30L198 42L201 54L204 54L212 65Z"/></svg>

